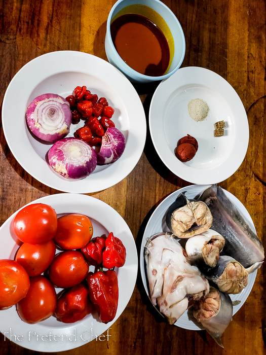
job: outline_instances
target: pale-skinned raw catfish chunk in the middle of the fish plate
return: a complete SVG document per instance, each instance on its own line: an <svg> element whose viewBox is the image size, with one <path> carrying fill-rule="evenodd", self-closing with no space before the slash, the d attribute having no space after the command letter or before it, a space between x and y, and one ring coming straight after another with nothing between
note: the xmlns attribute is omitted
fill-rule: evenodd
<svg viewBox="0 0 266 355"><path fill-rule="evenodd" d="M185 250L192 265L205 263L214 267L224 246L222 235L212 229L188 238L185 243Z"/></svg>

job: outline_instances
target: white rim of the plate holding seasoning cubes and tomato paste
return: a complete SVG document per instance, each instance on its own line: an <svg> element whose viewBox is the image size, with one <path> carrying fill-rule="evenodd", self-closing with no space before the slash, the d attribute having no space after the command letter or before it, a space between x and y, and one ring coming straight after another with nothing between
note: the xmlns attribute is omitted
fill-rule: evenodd
<svg viewBox="0 0 266 355"><path fill-rule="evenodd" d="M193 77L193 79L191 79L190 77ZM214 80L212 80L212 78ZM232 112L234 113L234 116L236 116L239 120L241 119L243 121L241 121L241 125L239 125L238 127L238 130L241 131L241 134L236 135L236 141L233 147L234 159L231 157L231 154L229 158L225 160L225 162L222 162L217 167L208 170L196 169L180 162L174 156L173 152L170 151L170 149L168 150L168 152L162 152L162 150L160 149L160 147L158 147L157 144L157 125L156 123L154 123L153 117L155 114L158 114L160 117L162 116L162 112L160 112L158 103L160 101L160 97L165 98L166 94L167 97L169 97L171 93L173 93L173 91L184 85L199 84L200 86L204 86L206 82L208 82L209 84L209 81L211 80L211 86L208 86L208 88L212 88L214 91L218 92L219 94L222 94L223 97L225 96L226 102L230 103L229 106ZM171 89L172 86L173 88ZM165 104L166 101L160 103L161 111L164 109ZM148 122L151 140L153 141L154 147L160 159L167 166L167 168L172 171L176 176L179 176L181 177L181 179L192 184L218 184L228 179L228 177L232 176L237 171L246 156L249 143L249 125L244 105L233 86L224 78L222 78L219 74L213 72L210 69L199 66L185 66L179 68L172 76L163 80L158 85L153 97L151 98ZM168 147L167 143L165 144L165 146ZM228 161L233 163L229 167ZM227 170L224 168L226 167L226 165ZM207 174L206 171L208 171L209 174Z"/></svg>

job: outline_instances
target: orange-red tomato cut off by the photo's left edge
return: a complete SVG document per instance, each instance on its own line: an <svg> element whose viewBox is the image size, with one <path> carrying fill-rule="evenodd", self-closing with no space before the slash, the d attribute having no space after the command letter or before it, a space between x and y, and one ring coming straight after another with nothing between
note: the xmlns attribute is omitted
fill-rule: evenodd
<svg viewBox="0 0 266 355"><path fill-rule="evenodd" d="M24 267L14 260L0 260L0 310L16 304L28 289L29 277Z"/></svg>

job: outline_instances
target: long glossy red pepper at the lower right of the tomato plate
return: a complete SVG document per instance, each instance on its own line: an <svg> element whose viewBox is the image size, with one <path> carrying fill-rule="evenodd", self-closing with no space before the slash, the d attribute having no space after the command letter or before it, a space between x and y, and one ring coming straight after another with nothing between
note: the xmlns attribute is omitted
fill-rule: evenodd
<svg viewBox="0 0 266 355"><path fill-rule="evenodd" d="M89 295L102 323L115 318L118 307L118 277L116 271L89 272L86 277Z"/></svg>

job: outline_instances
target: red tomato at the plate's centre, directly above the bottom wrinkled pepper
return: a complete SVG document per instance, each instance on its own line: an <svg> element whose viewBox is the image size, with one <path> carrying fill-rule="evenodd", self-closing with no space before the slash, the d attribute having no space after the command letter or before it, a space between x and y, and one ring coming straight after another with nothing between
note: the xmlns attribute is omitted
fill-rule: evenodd
<svg viewBox="0 0 266 355"><path fill-rule="evenodd" d="M57 287L67 289L78 285L87 276L89 265L80 252L71 250L57 254L49 266L50 281Z"/></svg>

